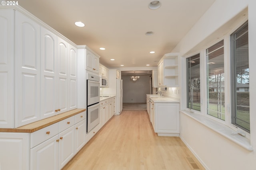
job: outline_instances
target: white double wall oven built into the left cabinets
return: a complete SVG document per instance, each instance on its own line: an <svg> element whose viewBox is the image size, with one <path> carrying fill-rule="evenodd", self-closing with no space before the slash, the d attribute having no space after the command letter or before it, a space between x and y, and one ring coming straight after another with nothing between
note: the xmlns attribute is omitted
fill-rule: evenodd
<svg viewBox="0 0 256 170"><path fill-rule="evenodd" d="M87 76L87 133L100 123L100 76Z"/></svg>

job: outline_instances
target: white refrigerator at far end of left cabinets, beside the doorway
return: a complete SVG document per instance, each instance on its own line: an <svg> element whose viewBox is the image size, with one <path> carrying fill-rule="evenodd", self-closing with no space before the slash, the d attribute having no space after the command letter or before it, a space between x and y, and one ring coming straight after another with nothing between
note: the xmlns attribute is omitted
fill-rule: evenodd
<svg viewBox="0 0 256 170"><path fill-rule="evenodd" d="M116 114L120 115L123 110L123 80L116 79Z"/></svg>

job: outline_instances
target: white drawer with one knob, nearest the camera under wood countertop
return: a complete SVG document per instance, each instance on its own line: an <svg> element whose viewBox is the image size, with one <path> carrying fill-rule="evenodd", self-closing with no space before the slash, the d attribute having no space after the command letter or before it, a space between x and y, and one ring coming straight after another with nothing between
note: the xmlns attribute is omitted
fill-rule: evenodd
<svg viewBox="0 0 256 170"><path fill-rule="evenodd" d="M36 145L50 139L54 135L58 134L58 123L47 126L43 129L35 131L30 134L30 148L35 147Z"/></svg>

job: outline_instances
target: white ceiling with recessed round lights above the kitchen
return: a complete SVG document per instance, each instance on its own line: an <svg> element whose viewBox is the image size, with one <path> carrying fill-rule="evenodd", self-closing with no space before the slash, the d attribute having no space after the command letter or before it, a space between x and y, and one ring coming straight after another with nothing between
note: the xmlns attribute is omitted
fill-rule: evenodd
<svg viewBox="0 0 256 170"><path fill-rule="evenodd" d="M76 45L87 45L108 68L157 66L215 0L20 0L20 6ZM77 27L82 21L85 27ZM154 34L147 36L147 31ZM102 51L99 48L104 47ZM150 54L150 51L156 53ZM115 59L115 61L110 61Z"/></svg>

